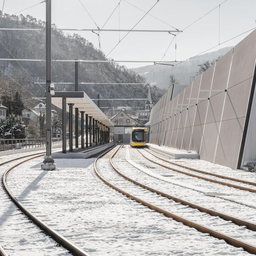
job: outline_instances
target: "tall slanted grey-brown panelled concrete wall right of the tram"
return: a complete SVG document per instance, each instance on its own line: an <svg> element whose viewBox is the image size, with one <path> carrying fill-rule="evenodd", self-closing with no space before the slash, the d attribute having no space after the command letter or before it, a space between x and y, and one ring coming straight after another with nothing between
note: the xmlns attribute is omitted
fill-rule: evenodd
<svg viewBox="0 0 256 256"><path fill-rule="evenodd" d="M256 160L256 135L249 134L256 126L255 60L256 30L172 100L170 88L151 110L150 143L193 150L232 169Z"/></svg>

